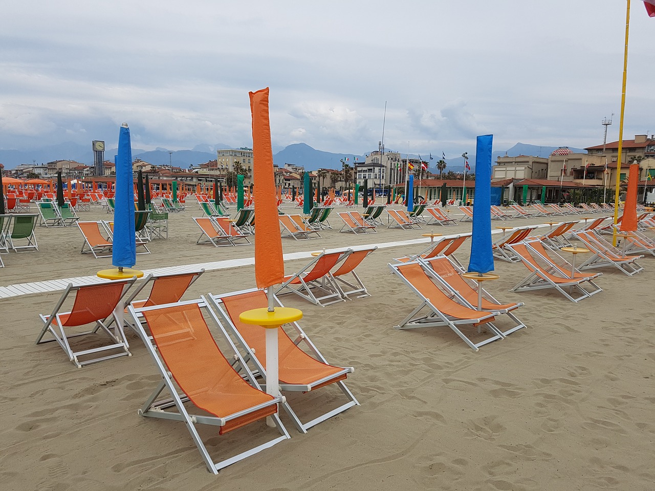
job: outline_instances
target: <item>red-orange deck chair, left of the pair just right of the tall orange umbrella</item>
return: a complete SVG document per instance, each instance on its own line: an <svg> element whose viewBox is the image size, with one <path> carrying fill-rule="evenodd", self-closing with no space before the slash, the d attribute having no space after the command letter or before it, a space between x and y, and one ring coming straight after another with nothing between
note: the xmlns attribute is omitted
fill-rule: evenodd
<svg viewBox="0 0 655 491"><path fill-rule="evenodd" d="M275 294L295 293L302 299L320 306L343 302L341 290L329 272L344 261L351 252L351 249L342 249L320 253L297 273L285 276L284 282L276 289Z"/></svg>

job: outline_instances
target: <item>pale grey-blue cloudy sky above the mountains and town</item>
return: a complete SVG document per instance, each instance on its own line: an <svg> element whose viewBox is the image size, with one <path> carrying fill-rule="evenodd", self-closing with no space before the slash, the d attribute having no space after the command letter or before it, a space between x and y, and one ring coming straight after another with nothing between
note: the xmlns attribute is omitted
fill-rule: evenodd
<svg viewBox="0 0 655 491"><path fill-rule="evenodd" d="M447 156L618 139L626 1L22 0L0 7L0 149L65 141ZM655 133L655 18L632 1L624 137ZM408 145L409 142L409 145Z"/></svg>

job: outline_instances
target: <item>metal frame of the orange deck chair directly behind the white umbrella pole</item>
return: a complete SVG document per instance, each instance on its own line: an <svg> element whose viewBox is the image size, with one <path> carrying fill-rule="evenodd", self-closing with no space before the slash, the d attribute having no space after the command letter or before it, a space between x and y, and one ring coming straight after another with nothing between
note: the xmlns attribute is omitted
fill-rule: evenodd
<svg viewBox="0 0 655 491"><path fill-rule="evenodd" d="M234 295L240 295L244 293L252 293L255 291L255 289L250 289L250 290L244 290L244 291L236 291L232 293L226 293L224 295L212 295L211 293L208 295L208 299L210 304L213 307L212 310L212 315L214 316L214 320L216 321L217 325L219 325L219 328L221 329L221 333L229 338L231 335L236 338L238 345L242 348L242 350L245 352L244 359L246 361L250 361L253 363L255 366L255 371L253 373L261 375L264 379L264 386L266 384L266 371L263 367L263 364L259 359L257 358L257 355L255 354L254 350L250 346L248 346L248 343L244 339L244 337L241 335L241 333L238 331L238 329L234 326L234 323L232 322L232 319L230 318L227 309L223 306L223 298L226 297L232 297ZM274 302L276 305L280 307L284 307L282 302L277 297L274 297ZM218 312L219 316L221 316L221 319L219 319L216 315L216 312ZM291 338L290 339L293 341L293 344L295 346L298 346L298 349L300 350L301 348L299 347L301 343L304 343L305 346L309 349L309 355L312 356L314 359L317 361L320 361L321 363L325 363L326 365L329 365L328 361L326 358L321 354L321 352L316 348L316 345L312 342L312 340L309 338L307 333L303 331L303 328L299 325L297 322L291 322L289 324L291 327L293 327L293 330L295 331L295 339ZM279 327L278 329L282 329L282 327ZM285 334L288 336L288 334L285 331ZM341 367L341 371L332 374L329 377L326 378L321 378L318 380L314 380L314 382L311 382L310 384L285 384L285 383L280 383L280 390L282 391L302 391L304 392L309 392L312 390L316 390L318 388L322 388L327 385L335 384L339 389L343 392L343 394L346 396L346 399L348 401L335 408L327 411L326 413L318 416L317 418L314 418L313 420L303 423L299 416L295 413L295 411L291 408L291 405L285 400L282 403L282 407L284 410L287 412L287 414L290 416L291 420L293 421L293 425L296 427L298 431L301 433L307 433L307 430L310 429L312 426L316 426L317 424L324 422L328 420L329 418L332 418L333 416L336 416L337 414L340 414L341 412L344 412L347 409L350 409L353 406L358 406L360 403L357 401L355 396L352 394L350 390L346 387L346 384L344 383L343 380L337 380L334 382L335 379L343 377L343 375L347 375L350 373L354 373L354 368L353 367Z"/></svg>

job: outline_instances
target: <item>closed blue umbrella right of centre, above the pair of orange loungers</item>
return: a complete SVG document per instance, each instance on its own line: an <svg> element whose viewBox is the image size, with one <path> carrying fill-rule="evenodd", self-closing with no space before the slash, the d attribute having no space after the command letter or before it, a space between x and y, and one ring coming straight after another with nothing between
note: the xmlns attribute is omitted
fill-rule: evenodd
<svg viewBox="0 0 655 491"><path fill-rule="evenodd" d="M477 137L476 145L476 205L473 207L473 234L468 272L479 274L493 271L491 246L491 145L493 135Z"/></svg>

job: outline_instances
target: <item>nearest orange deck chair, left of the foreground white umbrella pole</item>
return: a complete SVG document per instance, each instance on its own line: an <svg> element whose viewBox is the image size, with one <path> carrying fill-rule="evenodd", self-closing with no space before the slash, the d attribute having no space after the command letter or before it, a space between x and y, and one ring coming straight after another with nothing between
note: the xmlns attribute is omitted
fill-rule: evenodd
<svg viewBox="0 0 655 491"><path fill-rule="evenodd" d="M137 309L130 306L129 309L139 336L161 377L139 414L184 422L210 472L217 474L228 465L290 438L277 414L277 405L283 403L284 398L273 397L261 390L229 338L226 339L231 350L227 353L228 361L203 317L203 310L210 310L204 299ZM141 325L139 315L145 318L148 331ZM207 312L207 316L215 318L213 312ZM178 387L181 393L178 393ZM164 390L170 393L169 399L159 399ZM200 409L197 414L191 414L191 408L187 409L191 404ZM210 456L196 429L198 424L218 426L218 435L224 435L228 431L255 424L267 416L271 417L280 436L219 461ZM257 426L266 431L263 422ZM206 441L208 436L204 439ZM212 437L214 439L215 436ZM214 442L212 446L215 446ZM166 460L170 448L162 447L160 453L160 458Z"/></svg>

